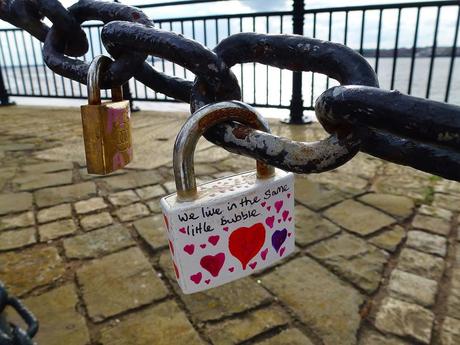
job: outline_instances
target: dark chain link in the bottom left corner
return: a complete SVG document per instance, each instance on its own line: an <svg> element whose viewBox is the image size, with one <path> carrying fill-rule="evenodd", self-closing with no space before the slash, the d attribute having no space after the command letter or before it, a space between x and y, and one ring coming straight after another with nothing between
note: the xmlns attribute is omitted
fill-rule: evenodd
<svg viewBox="0 0 460 345"><path fill-rule="evenodd" d="M27 324L27 330L8 323L5 308L10 306ZM0 345L35 345L32 338L38 332L38 321L32 313L15 297L8 296L0 282Z"/></svg>

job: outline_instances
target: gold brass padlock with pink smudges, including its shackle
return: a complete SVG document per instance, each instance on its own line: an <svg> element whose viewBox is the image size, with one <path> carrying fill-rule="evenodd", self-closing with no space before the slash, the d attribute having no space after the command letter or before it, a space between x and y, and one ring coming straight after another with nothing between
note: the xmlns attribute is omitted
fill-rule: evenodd
<svg viewBox="0 0 460 345"><path fill-rule="evenodd" d="M88 70L88 105L81 106L86 165L89 174L107 175L133 159L131 112L121 86L112 88L112 101L101 103L101 71L112 60L97 56Z"/></svg>

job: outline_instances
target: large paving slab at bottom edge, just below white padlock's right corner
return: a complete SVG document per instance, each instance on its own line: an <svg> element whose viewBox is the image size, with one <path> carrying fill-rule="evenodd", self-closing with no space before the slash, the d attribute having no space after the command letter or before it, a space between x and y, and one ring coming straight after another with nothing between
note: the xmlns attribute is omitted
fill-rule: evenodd
<svg viewBox="0 0 460 345"><path fill-rule="evenodd" d="M363 296L321 265L306 257L298 258L261 281L325 345L356 344Z"/></svg>

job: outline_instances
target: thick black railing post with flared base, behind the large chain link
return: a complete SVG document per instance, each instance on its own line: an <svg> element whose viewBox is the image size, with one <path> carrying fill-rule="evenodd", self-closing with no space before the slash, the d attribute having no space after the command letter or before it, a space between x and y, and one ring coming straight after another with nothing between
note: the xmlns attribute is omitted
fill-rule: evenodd
<svg viewBox="0 0 460 345"><path fill-rule="evenodd" d="M293 0L292 7L292 25L293 33L303 35L305 0ZM292 73L292 98L290 106L291 114L289 118L283 120L289 124L306 124L312 120L303 115L302 99L302 72Z"/></svg>

